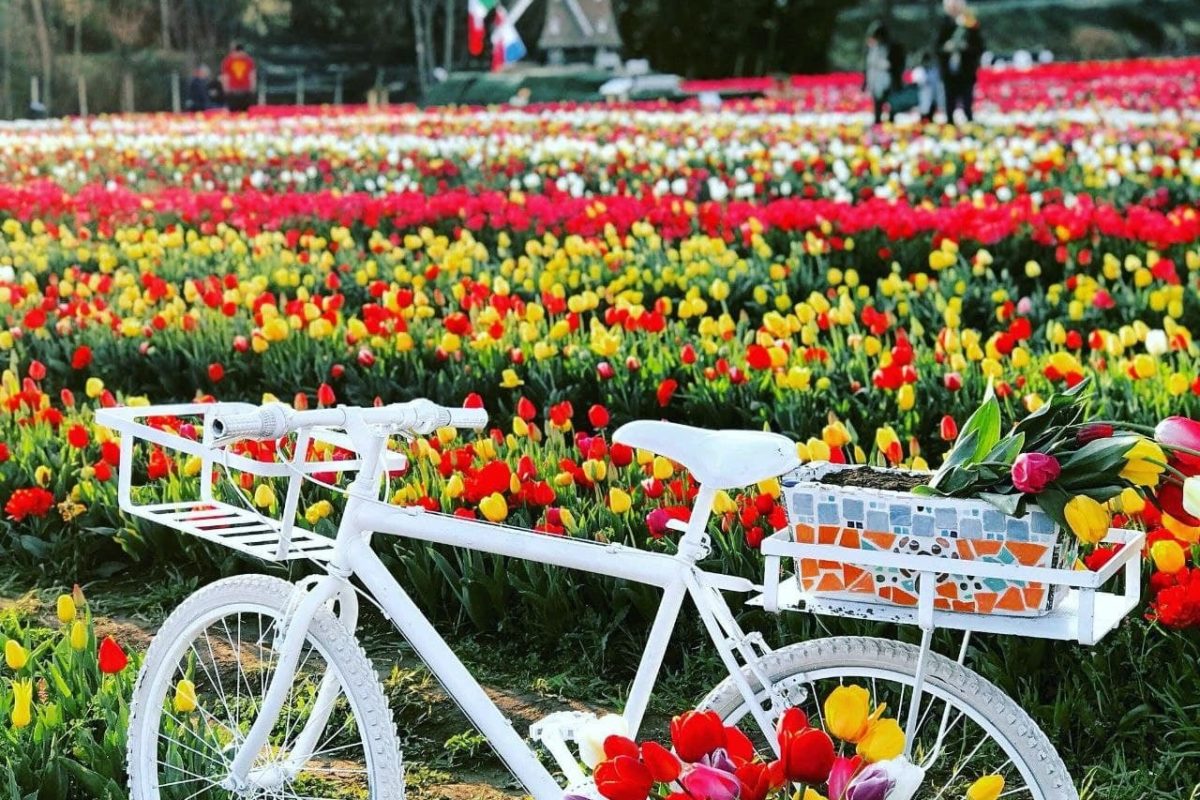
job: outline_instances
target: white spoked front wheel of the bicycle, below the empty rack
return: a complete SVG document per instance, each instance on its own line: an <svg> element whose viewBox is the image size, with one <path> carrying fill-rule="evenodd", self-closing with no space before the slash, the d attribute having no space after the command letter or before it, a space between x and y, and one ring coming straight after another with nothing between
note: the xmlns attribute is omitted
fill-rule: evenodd
<svg viewBox="0 0 1200 800"><path fill-rule="evenodd" d="M400 745L371 662L328 608L246 784L229 764L275 674L293 585L262 575L188 597L146 651L130 716L134 800L403 798Z"/></svg>

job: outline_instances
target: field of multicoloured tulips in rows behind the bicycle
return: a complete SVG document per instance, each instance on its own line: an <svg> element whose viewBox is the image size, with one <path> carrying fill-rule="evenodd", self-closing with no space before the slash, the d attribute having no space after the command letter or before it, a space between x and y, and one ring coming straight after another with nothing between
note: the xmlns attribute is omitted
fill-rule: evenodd
<svg viewBox="0 0 1200 800"><path fill-rule="evenodd" d="M0 639L29 656L0 675L0 795L125 796L114 753L143 645L94 631L94 612L138 615L128 596L106 607L104 587L158 596L280 571L122 518L101 407L481 405L480 437L409 443L394 503L659 549L695 487L611 441L634 419L768 428L804 459L919 469L989 384L1006 420L1085 378L1098 419L1200 419L1200 61L991 73L980 124L959 128L871 128L856 80L802 83L794 110L268 108L0 127L2 585L88 595L58 614L0 603ZM172 499L199 469L154 450L138 480ZM282 503L251 476L236 488ZM757 548L786 525L779 492L719 495L714 566L761 581ZM972 666L1042 724L1085 796L1196 796L1200 519L1123 501L1118 522L1183 553L1147 554L1145 608L1094 649L984 637ZM313 494L301 512L331 534L337 507ZM377 549L473 651L534 654L546 675L588 664L607 687L574 699L598 705L628 686L655 593ZM745 614L776 643L898 634ZM698 646L676 650L661 718L719 673ZM450 796L439 782L414 790Z"/></svg>

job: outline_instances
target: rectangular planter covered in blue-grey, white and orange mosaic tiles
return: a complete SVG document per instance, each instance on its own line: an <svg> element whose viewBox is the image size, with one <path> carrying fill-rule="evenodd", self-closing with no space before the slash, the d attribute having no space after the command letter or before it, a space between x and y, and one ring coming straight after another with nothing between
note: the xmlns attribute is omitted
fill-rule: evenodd
<svg viewBox="0 0 1200 800"><path fill-rule="evenodd" d="M794 541L863 551L946 559L936 578L935 608L948 612L1039 616L1066 593L1044 583L955 575L954 561L972 559L1021 567L1063 567L1075 559L1074 536L1036 506L1009 517L982 500L926 498L907 492L827 486L824 475L856 469L809 464L782 480ZM834 560L797 559L796 577L805 593L841 600L917 606L917 572L900 567L856 566Z"/></svg>

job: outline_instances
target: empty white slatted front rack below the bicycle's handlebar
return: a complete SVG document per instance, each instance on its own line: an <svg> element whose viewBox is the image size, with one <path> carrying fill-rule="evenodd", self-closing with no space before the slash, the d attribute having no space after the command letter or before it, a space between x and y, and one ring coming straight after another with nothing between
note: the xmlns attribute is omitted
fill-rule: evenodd
<svg viewBox="0 0 1200 800"><path fill-rule="evenodd" d="M331 428L306 428L296 434L295 453L290 463L257 461L214 445L211 422L216 414L239 414L256 408L258 407L246 403L180 403L106 408L97 411L97 422L121 434L118 479L121 510L258 559L286 561L307 558L328 561L334 553L334 540L295 524L300 488L306 475L356 471L360 468L358 457L342 461L307 459L308 445L312 443L319 441L353 451L350 439ZM152 417L199 417L203 438L190 439L154 427L146 422ZM138 504L133 498L132 479L133 447L139 441L198 457L200 459L198 497L176 503ZM385 469L398 470L403 469L404 464L401 453L386 453ZM280 518L275 519L253 509L239 507L215 498L212 471L217 467L259 477L287 479L288 486Z"/></svg>

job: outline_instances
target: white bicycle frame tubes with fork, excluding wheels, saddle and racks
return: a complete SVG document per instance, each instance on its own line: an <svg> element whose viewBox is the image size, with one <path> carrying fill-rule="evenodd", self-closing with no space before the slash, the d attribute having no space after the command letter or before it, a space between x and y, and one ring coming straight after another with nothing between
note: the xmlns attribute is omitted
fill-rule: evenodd
<svg viewBox="0 0 1200 800"><path fill-rule="evenodd" d="M757 634L746 636L740 631L728 604L720 594L721 591L751 593L760 587L745 578L706 572L696 566L696 563L708 552L704 528L712 515L715 492L701 487L690 522L686 527L679 527L683 528L684 535L676 554L650 553L623 545L551 536L518 528L430 513L419 507L385 506L377 500L384 440L365 428L348 429L348 433L360 445L362 470L349 489L349 500L334 545L335 553L328 564L329 575L317 578L311 589L298 588L300 594L298 602L292 604L294 610L281 624L283 644L278 648L276 673L271 679L259 717L254 721L230 765L230 775L227 781L229 788L252 786L254 776L251 765L266 744L268 735L286 702L313 615L322 606L337 596L353 595L349 579L358 577L366 591L378 602L418 656L438 678L472 723L488 739L509 770L524 784L534 799L558 800L562 798L563 787L541 764L533 748L526 744L524 738L515 730L512 722L487 696L482 686L450 649L450 645L371 549L373 534L404 536L661 588L664 590L662 600L650 628L644 655L630 687L624 711L624 717L634 735L641 726L684 599L691 597L706 631L734 684L746 698L755 720L763 729L767 740L774 741L774 736L770 735L774 724L772 709L763 708L756 697L756 691L743 674L743 666L749 667L760 686L767 687L772 706L776 705L780 698L776 697L766 676L760 675L754 667L755 661L766 651L766 645ZM353 614L350 616L353 619ZM755 652L755 646L760 648L760 652ZM316 729L312 733L306 729L298 741L314 741L316 732L324 727L337 694L336 691L326 691L330 679L331 675L326 674L317 708L307 723L307 726L317 726ZM562 750L559 748L559 751ZM307 757L308 753L293 753L292 762L302 764ZM582 771L576 765L560 764L560 766L566 774L569 784L584 780Z"/></svg>

